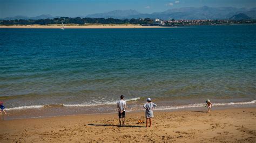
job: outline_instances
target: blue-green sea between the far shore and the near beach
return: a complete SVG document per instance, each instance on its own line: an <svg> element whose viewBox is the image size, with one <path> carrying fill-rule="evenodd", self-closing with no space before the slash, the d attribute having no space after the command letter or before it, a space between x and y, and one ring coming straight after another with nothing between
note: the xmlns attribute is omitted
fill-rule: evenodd
<svg viewBox="0 0 256 143"><path fill-rule="evenodd" d="M256 25L0 28L5 120L256 107Z"/></svg>

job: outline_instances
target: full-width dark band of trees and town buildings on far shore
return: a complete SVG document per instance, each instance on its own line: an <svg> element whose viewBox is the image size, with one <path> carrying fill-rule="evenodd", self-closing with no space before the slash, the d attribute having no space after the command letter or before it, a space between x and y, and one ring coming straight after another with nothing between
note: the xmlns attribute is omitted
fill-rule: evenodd
<svg viewBox="0 0 256 143"><path fill-rule="evenodd" d="M255 19L198 19L198 20L185 20L185 19L170 19L162 20L159 18L138 18L138 19L114 19L114 18L70 18L60 17L53 19L16 19L16 20L0 20L0 25L49 25L49 24L139 24L142 26L186 26L186 25L231 25L231 24L255 24Z"/></svg>

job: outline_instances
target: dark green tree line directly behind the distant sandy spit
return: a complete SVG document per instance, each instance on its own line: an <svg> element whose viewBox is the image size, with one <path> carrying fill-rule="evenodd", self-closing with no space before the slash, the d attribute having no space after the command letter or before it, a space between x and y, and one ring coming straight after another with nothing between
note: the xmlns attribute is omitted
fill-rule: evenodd
<svg viewBox="0 0 256 143"><path fill-rule="evenodd" d="M31 25L31 24L153 24L153 19L115 19L115 18L70 18L70 17L60 17L53 19L16 19L16 20L0 20L0 25Z"/></svg>

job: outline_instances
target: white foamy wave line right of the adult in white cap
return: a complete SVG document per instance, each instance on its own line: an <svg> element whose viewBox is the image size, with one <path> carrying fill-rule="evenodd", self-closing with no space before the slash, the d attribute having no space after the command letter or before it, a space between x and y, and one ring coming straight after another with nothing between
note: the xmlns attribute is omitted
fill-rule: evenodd
<svg viewBox="0 0 256 143"><path fill-rule="evenodd" d="M244 105L244 104L254 104L256 100L250 102L230 102L230 103L214 103L212 106L225 106L225 105ZM174 110L174 109L184 109L184 108L199 108L204 107L205 103L179 105L179 106L160 106L156 110Z"/></svg>

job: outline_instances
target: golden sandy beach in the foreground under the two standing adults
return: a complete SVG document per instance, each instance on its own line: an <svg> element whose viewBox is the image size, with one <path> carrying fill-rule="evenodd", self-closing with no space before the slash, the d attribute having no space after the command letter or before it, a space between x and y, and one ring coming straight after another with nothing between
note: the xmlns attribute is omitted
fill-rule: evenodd
<svg viewBox="0 0 256 143"><path fill-rule="evenodd" d="M256 142L255 108L156 111L154 124L136 124L144 112L128 112L118 127L116 114L0 121L0 142L185 141Z"/></svg>

